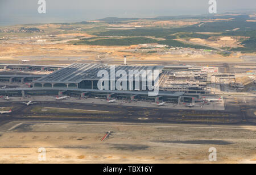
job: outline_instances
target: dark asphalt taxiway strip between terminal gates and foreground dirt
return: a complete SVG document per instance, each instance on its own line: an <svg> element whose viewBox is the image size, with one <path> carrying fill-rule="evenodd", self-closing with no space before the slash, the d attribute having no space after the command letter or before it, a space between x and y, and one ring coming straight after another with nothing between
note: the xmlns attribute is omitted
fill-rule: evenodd
<svg viewBox="0 0 256 175"><path fill-rule="evenodd" d="M1 102L0 106L13 107L13 113L0 115L1 125L10 121L25 120L55 122L249 124L253 126L256 124L254 116L246 113L244 109L238 109L237 107L234 109L232 106L228 106L228 110L221 111L160 109L64 101L39 102L31 106L26 106L19 102ZM247 106L246 110L251 110L251 108Z"/></svg>

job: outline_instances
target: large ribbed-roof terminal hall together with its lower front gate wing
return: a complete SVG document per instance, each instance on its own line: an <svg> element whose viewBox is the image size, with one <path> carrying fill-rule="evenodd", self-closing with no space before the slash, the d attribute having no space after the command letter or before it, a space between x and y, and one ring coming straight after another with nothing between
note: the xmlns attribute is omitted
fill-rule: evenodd
<svg viewBox="0 0 256 175"><path fill-rule="evenodd" d="M86 96L86 97L98 97L98 98L115 98L115 99L129 99L136 100L141 99L144 101L170 101L178 102L179 98L184 95L184 92L165 92L160 91L155 97L150 97L148 95L148 86L151 84L155 85L156 77L154 72L157 71L159 76L161 76L164 66L110 66L108 64L72 64L65 68L59 69L47 76L38 78L32 82L34 89L40 88L42 90L52 90L48 93L56 93L54 89L61 90L61 93L72 95L72 96ZM98 73L104 70L107 72L109 77L108 87L104 90L98 88L98 82L102 77L98 76ZM118 78L112 78L112 74L116 75L121 72L119 76L124 76L126 87L122 90L118 90L114 86L118 81ZM133 72L133 78L129 79L129 72ZM150 81L143 82L143 73L147 80ZM125 74L125 75L124 75ZM135 84L138 82L139 87ZM105 82L102 82L105 84ZM121 82L122 86L124 85ZM146 86L143 88L143 86ZM139 88L139 89L138 89ZM144 90L143 90L144 89ZM59 94L61 95L61 94Z"/></svg>

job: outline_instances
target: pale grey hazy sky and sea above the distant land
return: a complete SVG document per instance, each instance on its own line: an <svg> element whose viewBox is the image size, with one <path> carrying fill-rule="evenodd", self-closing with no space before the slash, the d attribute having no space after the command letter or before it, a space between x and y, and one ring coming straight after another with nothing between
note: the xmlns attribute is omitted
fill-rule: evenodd
<svg viewBox="0 0 256 175"><path fill-rule="evenodd" d="M46 0L47 13L38 13L38 0L0 0L0 25L80 22L117 17L208 14L209 0ZM256 0L217 0L218 13L256 11Z"/></svg>

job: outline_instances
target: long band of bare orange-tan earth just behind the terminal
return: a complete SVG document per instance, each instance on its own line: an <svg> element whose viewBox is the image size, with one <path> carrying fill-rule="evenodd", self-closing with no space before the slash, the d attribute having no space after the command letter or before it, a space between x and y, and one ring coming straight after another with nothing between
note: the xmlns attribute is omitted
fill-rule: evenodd
<svg viewBox="0 0 256 175"><path fill-rule="evenodd" d="M31 61L42 60L47 64L63 64L63 61L79 62L83 60L123 60L123 55L129 59L157 60L157 61L203 61L203 62L241 62L242 54L224 57L221 55L159 55L158 53L144 54L133 52L122 52L131 47L101 47L94 45L69 45L69 44L0 44L0 62ZM133 46L135 47L135 46ZM22 51L22 52L21 52ZM60 55L61 52L61 55ZM64 58L65 57L65 58ZM54 60L53 62L51 62Z"/></svg>

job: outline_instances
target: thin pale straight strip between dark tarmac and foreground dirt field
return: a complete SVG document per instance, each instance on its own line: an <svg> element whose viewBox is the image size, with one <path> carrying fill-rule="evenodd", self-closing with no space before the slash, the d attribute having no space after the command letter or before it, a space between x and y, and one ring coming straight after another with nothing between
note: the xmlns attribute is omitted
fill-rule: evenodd
<svg viewBox="0 0 256 175"><path fill-rule="evenodd" d="M199 126L155 126L155 125L137 125L137 124L92 124L92 123L32 123L24 122L16 124L11 127L8 131L13 130L14 128L22 124L66 124L66 125L85 125L85 126L127 126L127 127L163 127L163 128L200 128L200 129L224 129L224 130L256 130L256 128L237 128L237 127L199 127Z"/></svg>

